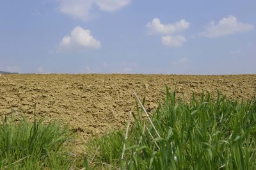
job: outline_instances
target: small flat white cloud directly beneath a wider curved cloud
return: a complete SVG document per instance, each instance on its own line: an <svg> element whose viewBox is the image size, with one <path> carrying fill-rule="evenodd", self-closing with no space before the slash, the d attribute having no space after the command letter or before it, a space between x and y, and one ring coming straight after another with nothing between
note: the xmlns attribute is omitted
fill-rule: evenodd
<svg viewBox="0 0 256 170"><path fill-rule="evenodd" d="M168 47L181 47L186 42L186 38L181 35L162 36L162 43Z"/></svg>

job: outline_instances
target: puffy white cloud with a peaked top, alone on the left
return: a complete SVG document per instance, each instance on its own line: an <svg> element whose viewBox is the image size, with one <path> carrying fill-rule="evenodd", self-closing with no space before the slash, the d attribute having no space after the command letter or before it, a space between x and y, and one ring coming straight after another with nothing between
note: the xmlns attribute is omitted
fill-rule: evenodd
<svg viewBox="0 0 256 170"><path fill-rule="evenodd" d="M71 31L71 35L62 38L59 49L61 51L99 49L100 46L100 41L91 35L90 30L77 26Z"/></svg>

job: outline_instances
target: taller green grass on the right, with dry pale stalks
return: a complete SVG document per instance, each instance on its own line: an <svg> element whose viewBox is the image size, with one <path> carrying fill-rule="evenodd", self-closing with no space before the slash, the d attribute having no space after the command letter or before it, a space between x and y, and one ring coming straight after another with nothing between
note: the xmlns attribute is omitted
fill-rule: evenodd
<svg viewBox="0 0 256 170"><path fill-rule="evenodd" d="M152 123L143 118L143 104L138 102L137 114L132 113L134 123L127 137L113 132L87 144L88 157L96 155L91 167L256 169L255 98L238 101L202 93L185 101L166 88L163 104L149 116Z"/></svg>

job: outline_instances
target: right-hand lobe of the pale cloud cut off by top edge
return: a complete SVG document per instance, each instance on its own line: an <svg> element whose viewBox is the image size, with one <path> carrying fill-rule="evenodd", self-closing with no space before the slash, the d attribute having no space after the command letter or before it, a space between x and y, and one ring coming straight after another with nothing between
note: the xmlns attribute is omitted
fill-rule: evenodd
<svg viewBox="0 0 256 170"><path fill-rule="evenodd" d="M120 8L127 6L131 0L94 0L99 5L100 10L107 12L114 12Z"/></svg>

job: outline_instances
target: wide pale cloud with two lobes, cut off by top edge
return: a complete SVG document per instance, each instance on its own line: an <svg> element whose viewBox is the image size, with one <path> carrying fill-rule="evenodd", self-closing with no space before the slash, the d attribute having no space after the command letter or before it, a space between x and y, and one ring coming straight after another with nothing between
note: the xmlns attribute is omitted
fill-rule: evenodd
<svg viewBox="0 0 256 170"><path fill-rule="evenodd" d="M93 4L99 6L100 10L114 12L127 6L131 0L56 0L60 3L58 10L76 19L92 19Z"/></svg>

